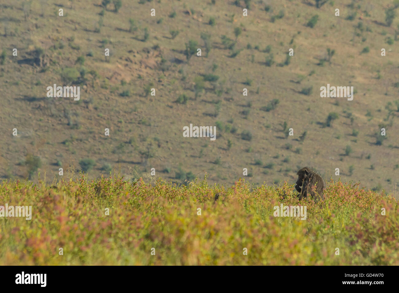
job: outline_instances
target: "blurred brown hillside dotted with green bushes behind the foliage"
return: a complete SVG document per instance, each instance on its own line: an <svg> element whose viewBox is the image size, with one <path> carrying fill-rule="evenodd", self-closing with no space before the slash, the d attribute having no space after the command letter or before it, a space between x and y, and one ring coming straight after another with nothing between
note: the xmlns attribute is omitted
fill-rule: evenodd
<svg viewBox="0 0 399 293"><path fill-rule="evenodd" d="M2 179L155 168L152 180L233 185L247 168L255 186L292 185L310 166L398 197L397 1L120 3L0 4ZM53 84L80 99L47 97ZM353 100L320 97L327 84ZM216 139L183 137L190 124Z"/></svg>

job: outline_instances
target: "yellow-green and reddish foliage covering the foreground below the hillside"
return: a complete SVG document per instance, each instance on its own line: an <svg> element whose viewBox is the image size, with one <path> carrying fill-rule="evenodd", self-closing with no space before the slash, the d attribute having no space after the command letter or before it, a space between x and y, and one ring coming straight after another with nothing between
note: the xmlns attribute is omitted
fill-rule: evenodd
<svg viewBox="0 0 399 293"><path fill-rule="evenodd" d="M187 186L113 177L57 188L3 182L0 205L32 205L32 220L0 218L0 264L399 265L393 197L340 181L330 181L324 203L294 195L286 183L225 188L206 178ZM306 205L306 220L274 217L281 203Z"/></svg>

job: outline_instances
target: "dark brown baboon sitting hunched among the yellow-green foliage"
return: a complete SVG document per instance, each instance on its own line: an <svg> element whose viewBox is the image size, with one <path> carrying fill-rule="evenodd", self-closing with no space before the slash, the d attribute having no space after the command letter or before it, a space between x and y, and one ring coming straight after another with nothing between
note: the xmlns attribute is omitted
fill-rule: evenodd
<svg viewBox="0 0 399 293"><path fill-rule="evenodd" d="M306 198L310 193L316 203L319 199L324 201L324 189L326 187L322 177L308 167L300 169L297 174L298 180L296 180L295 189L300 193L299 199ZM314 188L314 185L316 185L316 188Z"/></svg>

